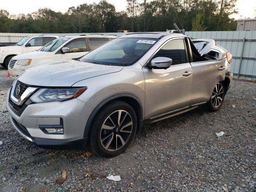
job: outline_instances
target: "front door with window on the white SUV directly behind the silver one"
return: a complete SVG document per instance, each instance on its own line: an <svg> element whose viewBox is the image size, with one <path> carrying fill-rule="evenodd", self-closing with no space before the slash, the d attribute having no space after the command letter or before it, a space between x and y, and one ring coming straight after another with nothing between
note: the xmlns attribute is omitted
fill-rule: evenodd
<svg viewBox="0 0 256 192"><path fill-rule="evenodd" d="M68 47L70 52L61 54L62 59L79 58L88 53L88 46L85 38L78 38L68 42L63 47Z"/></svg>

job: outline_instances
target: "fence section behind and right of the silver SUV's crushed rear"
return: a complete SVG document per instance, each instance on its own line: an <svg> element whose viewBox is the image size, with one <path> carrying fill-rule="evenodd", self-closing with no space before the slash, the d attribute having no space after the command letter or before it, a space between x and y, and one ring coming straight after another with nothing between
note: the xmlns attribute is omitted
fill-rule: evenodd
<svg viewBox="0 0 256 192"><path fill-rule="evenodd" d="M232 72L239 73L240 56L245 38L240 66L240 76L256 78L256 31L204 31L185 32L191 38L215 39L216 44L227 49L235 58L232 60Z"/></svg>

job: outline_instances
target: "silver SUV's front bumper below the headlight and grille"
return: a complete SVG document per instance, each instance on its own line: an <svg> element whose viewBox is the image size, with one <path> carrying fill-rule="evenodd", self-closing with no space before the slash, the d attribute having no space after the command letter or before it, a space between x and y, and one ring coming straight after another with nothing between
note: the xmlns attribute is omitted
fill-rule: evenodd
<svg viewBox="0 0 256 192"><path fill-rule="evenodd" d="M28 104L19 114L10 103L10 90L7 109L11 122L26 140L42 148L68 149L86 146L87 137L84 138L84 130L94 106L72 99L65 102ZM42 130L42 125L56 126L60 124L61 119L64 134L47 134Z"/></svg>

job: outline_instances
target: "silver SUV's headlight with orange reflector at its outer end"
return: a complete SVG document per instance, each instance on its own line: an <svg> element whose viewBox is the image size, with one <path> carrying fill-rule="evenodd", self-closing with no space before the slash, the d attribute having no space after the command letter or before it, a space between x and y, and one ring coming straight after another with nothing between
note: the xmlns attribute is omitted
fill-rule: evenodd
<svg viewBox="0 0 256 192"><path fill-rule="evenodd" d="M77 98L87 88L71 88L71 89L40 89L30 99L35 103L66 101Z"/></svg>

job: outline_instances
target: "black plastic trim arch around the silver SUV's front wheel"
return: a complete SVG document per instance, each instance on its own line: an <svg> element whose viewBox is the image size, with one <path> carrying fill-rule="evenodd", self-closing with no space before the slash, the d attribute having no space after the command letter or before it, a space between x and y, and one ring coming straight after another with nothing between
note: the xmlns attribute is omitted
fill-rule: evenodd
<svg viewBox="0 0 256 192"><path fill-rule="evenodd" d="M110 97L106 98L105 100L103 100L102 102L100 102L100 104L98 104L96 106L96 108L94 108L92 113L90 114L90 116L86 122L85 130L84 130L84 138L86 139L86 141L88 140L90 128L91 128L92 122L93 122L96 114L99 112L99 110L101 108L103 108L108 103L110 103L114 100L121 100L121 101L124 101L124 102L130 104L130 106L132 106L132 108L134 108L134 111L137 116L137 122L138 122L137 128L140 129L143 126L143 107L142 107L140 100L136 96L129 94L129 93L116 94L116 95L110 96Z"/></svg>

